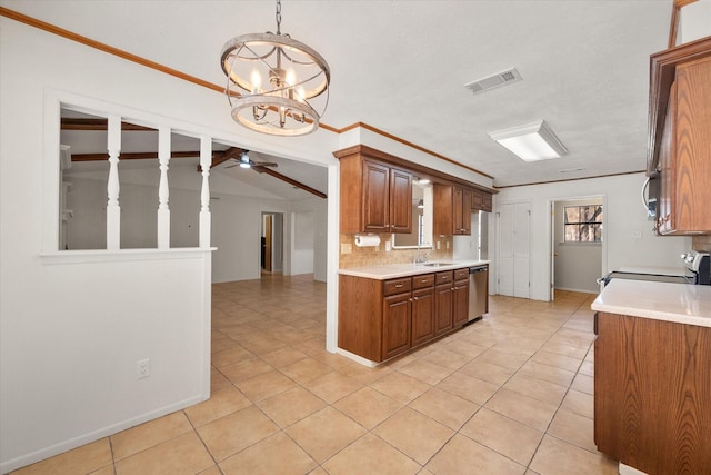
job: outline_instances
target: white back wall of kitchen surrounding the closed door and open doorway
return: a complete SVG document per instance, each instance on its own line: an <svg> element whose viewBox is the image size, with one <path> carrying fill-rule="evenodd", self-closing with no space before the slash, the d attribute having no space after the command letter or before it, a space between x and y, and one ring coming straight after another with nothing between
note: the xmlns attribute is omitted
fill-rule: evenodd
<svg viewBox="0 0 711 475"><path fill-rule="evenodd" d="M644 174L617 177L592 178L545 185L502 188L494 197L494 206L502 204L531 202L531 298L549 299L550 253L551 253L551 202L571 198L603 196L605 212L603 247L603 273L623 266L681 267L679 255L691 248L688 237L658 237L652 232L652 222L647 219L640 198ZM494 209L495 211L495 209ZM495 236L495 212L490 221L492 246L498 245ZM493 229L492 229L493 228ZM641 232L635 238L634 232ZM492 265L497 269L495 263ZM491 279L495 286L495 278ZM494 287L495 288L495 287Z"/></svg>

